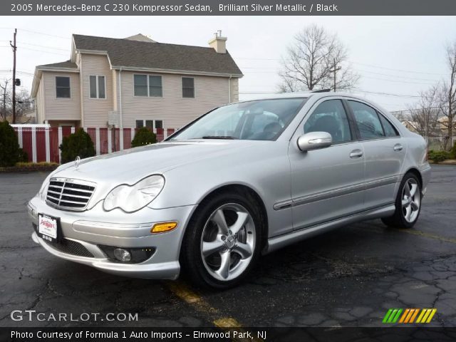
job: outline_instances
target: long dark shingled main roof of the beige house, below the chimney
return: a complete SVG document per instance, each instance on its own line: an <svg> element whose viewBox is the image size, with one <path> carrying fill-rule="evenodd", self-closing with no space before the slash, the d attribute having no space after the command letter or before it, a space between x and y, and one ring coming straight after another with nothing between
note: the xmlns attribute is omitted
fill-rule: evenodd
<svg viewBox="0 0 456 342"><path fill-rule="evenodd" d="M107 51L114 68L152 68L242 76L229 53L214 48L73 34L76 50Z"/></svg>

